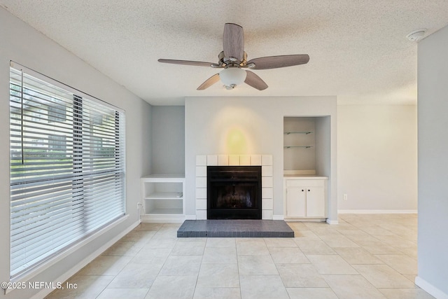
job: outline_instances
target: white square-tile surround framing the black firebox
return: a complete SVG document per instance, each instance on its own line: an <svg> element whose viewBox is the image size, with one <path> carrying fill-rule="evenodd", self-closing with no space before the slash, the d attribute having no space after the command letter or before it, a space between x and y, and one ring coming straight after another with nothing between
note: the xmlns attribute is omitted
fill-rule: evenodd
<svg viewBox="0 0 448 299"><path fill-rule="evenodd" d="M207 166L261 166L261 218L272 220L272 155L197 155L196 219L207 219Z"/></svg>

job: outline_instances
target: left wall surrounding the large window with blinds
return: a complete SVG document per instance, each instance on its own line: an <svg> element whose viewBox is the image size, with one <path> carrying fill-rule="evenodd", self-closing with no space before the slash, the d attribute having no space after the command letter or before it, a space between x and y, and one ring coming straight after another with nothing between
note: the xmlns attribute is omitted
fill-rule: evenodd
<svg viewBox="0 0 448 299"><path fill-rule="evenodd" d="M139 221L136 208L140 197L139 179L144 172L144 168L151 168L149 156L146 155L146 153L151 153L151 146L146 137L146 132L151 130L151 127L148 127L150 123L146 120L148 115L151 115L151 106L111 81L110 78L100 74L99 71L85 64L43 34L36 32L3 8L0 8L0 41L0 138L2 140L0 143L0 155L2 157L0 159L0 281L9 281L8 83L10 60L103 99L125 110L126 113L126 196L129 217L103 235L92 239L85 246L80 246L63 260L29 279L30 281L55 281L66 274L67 270L82 265L80 262L87 256L102 248L114 237L132 228ZM7 295L3 295L3 291L1 291L0 298L31 298L38 291L27 288L12 291Z"/></svg>

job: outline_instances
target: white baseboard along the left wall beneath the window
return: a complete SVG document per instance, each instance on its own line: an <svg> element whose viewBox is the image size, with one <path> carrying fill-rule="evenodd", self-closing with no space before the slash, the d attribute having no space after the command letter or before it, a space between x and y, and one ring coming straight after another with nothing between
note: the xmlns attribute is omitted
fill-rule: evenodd
<svg viewBox="0 0 448 299"><path fill-rule="evenodd" d="M109 247L112 246L113 244L115 244L119 239L121 239L122 237L125 237L125 235L127 235L128 232L130 232L131 230L136 228L137 225L139 225L139 224L140 224L140 221L136 221L136 222L132 223L132 225L130 227L123 230L123 232L121 232L119 235L116 235L116 237L109 240L109 242L107 242L103 246L99 247L99 249L97 249L96 251L91 253L89 256L85 257L83 260L81 260L79 263L77 263L74 267L67 270L64 274L62 274L60 277L55 279L55 281L53 281L53 284L56 285L57 282L62 283L64 281L66 281L67 279L69 279L70 277L72 277L79 270L83 269L83 267L85 267L88 263L90 263L92 260L94 260L95 258L100 256L101 253L106 251L106 249L109 249ZM52 288L43 288L42 291L36 293L36 295L32 296L31 299L45 298L45 296L50 294L52 291L54 291Z"/></svg>

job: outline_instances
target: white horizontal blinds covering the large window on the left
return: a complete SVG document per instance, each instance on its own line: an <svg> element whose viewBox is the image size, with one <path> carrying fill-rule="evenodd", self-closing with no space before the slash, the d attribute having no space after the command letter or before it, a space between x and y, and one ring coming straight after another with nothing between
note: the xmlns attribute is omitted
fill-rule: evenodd
<svg viewBox="0 0 448 299"><path fill-rule="evenodd" d="M42 78L10 68L11 277L125 214L123 111Z"/></svg>

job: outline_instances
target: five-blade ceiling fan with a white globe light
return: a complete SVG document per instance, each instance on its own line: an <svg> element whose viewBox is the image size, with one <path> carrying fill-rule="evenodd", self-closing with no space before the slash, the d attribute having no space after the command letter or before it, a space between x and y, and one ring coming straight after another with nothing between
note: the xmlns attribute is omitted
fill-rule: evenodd
<svg viewBox="0 0 448 299"><path fill-rule="evenodd" d="M244 69L278 69L306 64L309 61L309 56L306 54L258 57L247 61L247 54L244 52L243 27L233 23L224 25L223 48L224 50L218 55L218 63L165 59L160 59L158 62L223 69L218 74L208 78L197 90L209 88L220 80L227 89L235 88L235 86L244 82L258 90L265 90L267 88L265 81L262 81L253 71Z"/></svg>

